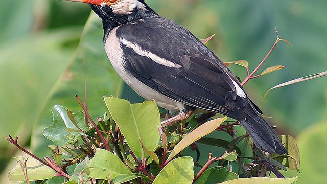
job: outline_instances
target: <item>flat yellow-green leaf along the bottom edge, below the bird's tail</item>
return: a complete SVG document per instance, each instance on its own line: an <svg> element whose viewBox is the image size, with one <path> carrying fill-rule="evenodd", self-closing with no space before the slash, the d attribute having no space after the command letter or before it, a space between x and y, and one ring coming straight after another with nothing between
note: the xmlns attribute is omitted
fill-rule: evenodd
<svg viewBox="0 0 327 184"><path fill-rule="evenodd" d="M225 181L221 184L292 184L297 180L297 177L280 179L280 178L267 178L267 177L253 177L253 178L240 178L230 181Z"/></svg>

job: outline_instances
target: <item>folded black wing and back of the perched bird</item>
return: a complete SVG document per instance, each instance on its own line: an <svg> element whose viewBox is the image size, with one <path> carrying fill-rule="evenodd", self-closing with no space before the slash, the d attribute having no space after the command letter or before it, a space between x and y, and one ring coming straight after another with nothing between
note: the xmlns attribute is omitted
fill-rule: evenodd
<svg viewBox="0 0 327 184"><path fill-rule="evenodd" d="M244 118L235 103L235 84L242 87L224 63L181 26L163 18L146 22L147 25L143 22L123 25L116 36L180 67L154 62L122 44L127 71L174 100L231 118Z"/></svg>

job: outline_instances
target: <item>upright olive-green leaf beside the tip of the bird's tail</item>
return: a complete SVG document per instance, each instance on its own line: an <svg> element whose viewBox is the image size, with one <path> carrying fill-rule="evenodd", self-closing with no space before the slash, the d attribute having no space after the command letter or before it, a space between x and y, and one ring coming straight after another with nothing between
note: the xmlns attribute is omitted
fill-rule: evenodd
<svg viewBox="0 0 327 184"><path fill-rule="evenodd" d="M283 160L286 159L286 167L292 170L298 170L300 168L300 150L296 141L290 135L279 135L278 137L286 148L288 155L273 154L271 157L279 163L283 163Z"/></svg>

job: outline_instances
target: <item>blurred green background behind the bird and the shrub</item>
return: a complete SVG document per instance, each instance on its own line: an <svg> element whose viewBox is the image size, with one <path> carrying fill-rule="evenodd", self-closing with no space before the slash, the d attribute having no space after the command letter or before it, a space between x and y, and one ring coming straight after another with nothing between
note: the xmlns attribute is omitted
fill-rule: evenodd
<svg viewBox="0 0 327 184"><path fill-rule="evenodd" d="M282 82L327 70L327 2L325 0L148 0L161 16L191 30L199 39L212 34L211 48L223 61L247 60L250 69L263 59L279 35L293 44L278 44L264 64L287 67L251 80L246 89L260 104L267 89ZM0 4L0 137L17 135L37 155L46 155L41 130L51 124L54 104L80 110L74 95L84 95L84 66L91 114L105 111L102 96L142 101L116 76L102 45L101 22L85 4L58 0L2 0ZM245 71L232 66L243 79ZM276 89L263 111L279 134L297 138L301 174L297 183L327 181L327 78ZM34 127L34 128L33 128ZM33 132L33 134L32 134ZM0 139L1 183L16 148Z"/></svg>

